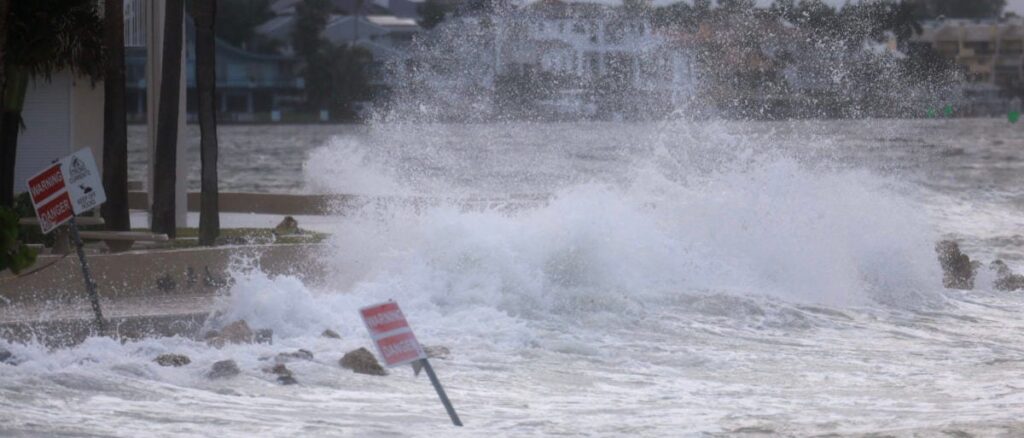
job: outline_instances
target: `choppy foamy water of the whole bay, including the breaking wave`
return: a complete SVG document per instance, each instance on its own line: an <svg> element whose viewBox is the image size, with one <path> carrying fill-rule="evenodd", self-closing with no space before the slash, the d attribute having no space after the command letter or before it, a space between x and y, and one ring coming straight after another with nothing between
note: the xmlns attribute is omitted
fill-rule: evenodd
<svg viewBox="0 0 1024 438"><path fill-rule="evenodd" d="M248 129L225 157L269 159L225 166L225 188L551 198L348 212L323 283L238 273L227 316L273 346L0 344L23 360L0 365L0 435L1024 434L1024 295L944 290L933 251L1024 267L1019 125ZM368 344L356 309L389 298L451 347L435 366L466 428L409 369L337 365ZM289 365L301 386L260 370L295 348L316 356ZM207 380L224 358L243 376Z"/></svg>

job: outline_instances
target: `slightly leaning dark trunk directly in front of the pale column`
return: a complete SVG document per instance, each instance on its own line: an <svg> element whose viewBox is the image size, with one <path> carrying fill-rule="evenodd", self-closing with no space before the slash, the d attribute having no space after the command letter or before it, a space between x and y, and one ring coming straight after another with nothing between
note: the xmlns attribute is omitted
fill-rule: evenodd
<svg viewBox="0 0 1024 438"><path fill-rule="evenodd" d="M157 112L157 151L154 163L151 229L176 234L174 184L178 179L178 99L181 86L181 35L184 0L167 0L164 16L163 64L160 74L160 107ZM183 176L182 176L183 177Z"/></svg>

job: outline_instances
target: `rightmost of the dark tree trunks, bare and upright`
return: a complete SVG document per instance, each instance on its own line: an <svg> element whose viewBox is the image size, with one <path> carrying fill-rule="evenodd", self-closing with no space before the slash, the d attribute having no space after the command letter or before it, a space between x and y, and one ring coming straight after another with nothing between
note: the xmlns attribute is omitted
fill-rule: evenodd
<svg viewBox="0 0 1024 438"><path fill-rule="evenodd" d="M199 244L213 246L220 234L220 207L217 198L217 113L216 113L216 0L194 0L196 20L196 82L199 91L200 157L203 166L200 194Z"/></svg>

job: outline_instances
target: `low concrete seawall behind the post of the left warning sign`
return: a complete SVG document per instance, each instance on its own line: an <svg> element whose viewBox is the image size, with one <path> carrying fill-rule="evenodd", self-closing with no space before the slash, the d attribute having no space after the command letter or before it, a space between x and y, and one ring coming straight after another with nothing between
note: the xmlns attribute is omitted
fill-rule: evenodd
<svg viewBox="0 0 1024 438"><path fill-rule="evenodd" d="M242 258L271 275L323 278L314 260L322 245L270 245L144 251L89 256L110 335L195 336L229 282L228 269ZM74 345L90 335L92 311L75 256L40 257L53 263L24 277L0 276L0 338Z"/></svg>

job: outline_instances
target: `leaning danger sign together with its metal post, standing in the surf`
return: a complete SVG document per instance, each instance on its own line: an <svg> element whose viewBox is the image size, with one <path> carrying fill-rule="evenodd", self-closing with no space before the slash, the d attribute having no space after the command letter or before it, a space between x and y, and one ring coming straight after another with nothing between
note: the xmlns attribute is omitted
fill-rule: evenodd
<svg viewBox="0 0 1024 438"><path fill-rule="evenodd" d="M444 388L441 387L441 381L437 379L434 368L430 366L427 353L423 351L420 342L416 340L416 335L409 326L406 315L398 308L398 303L388 301L364 307L359 309L359 314L362 315L362 322L367 324L367 331L370 332L370 337L374 340L377 351L384 358L384 363L388 366L412 363L414 369L416 365L426 369L427 376L430 377L430 383L437 391L437 397L441 399L444 410L447 410L449 417L452 418L452 424L461 427L462 420L459 420L459 414L455 412L452 401L449 400Z"/></svg>

